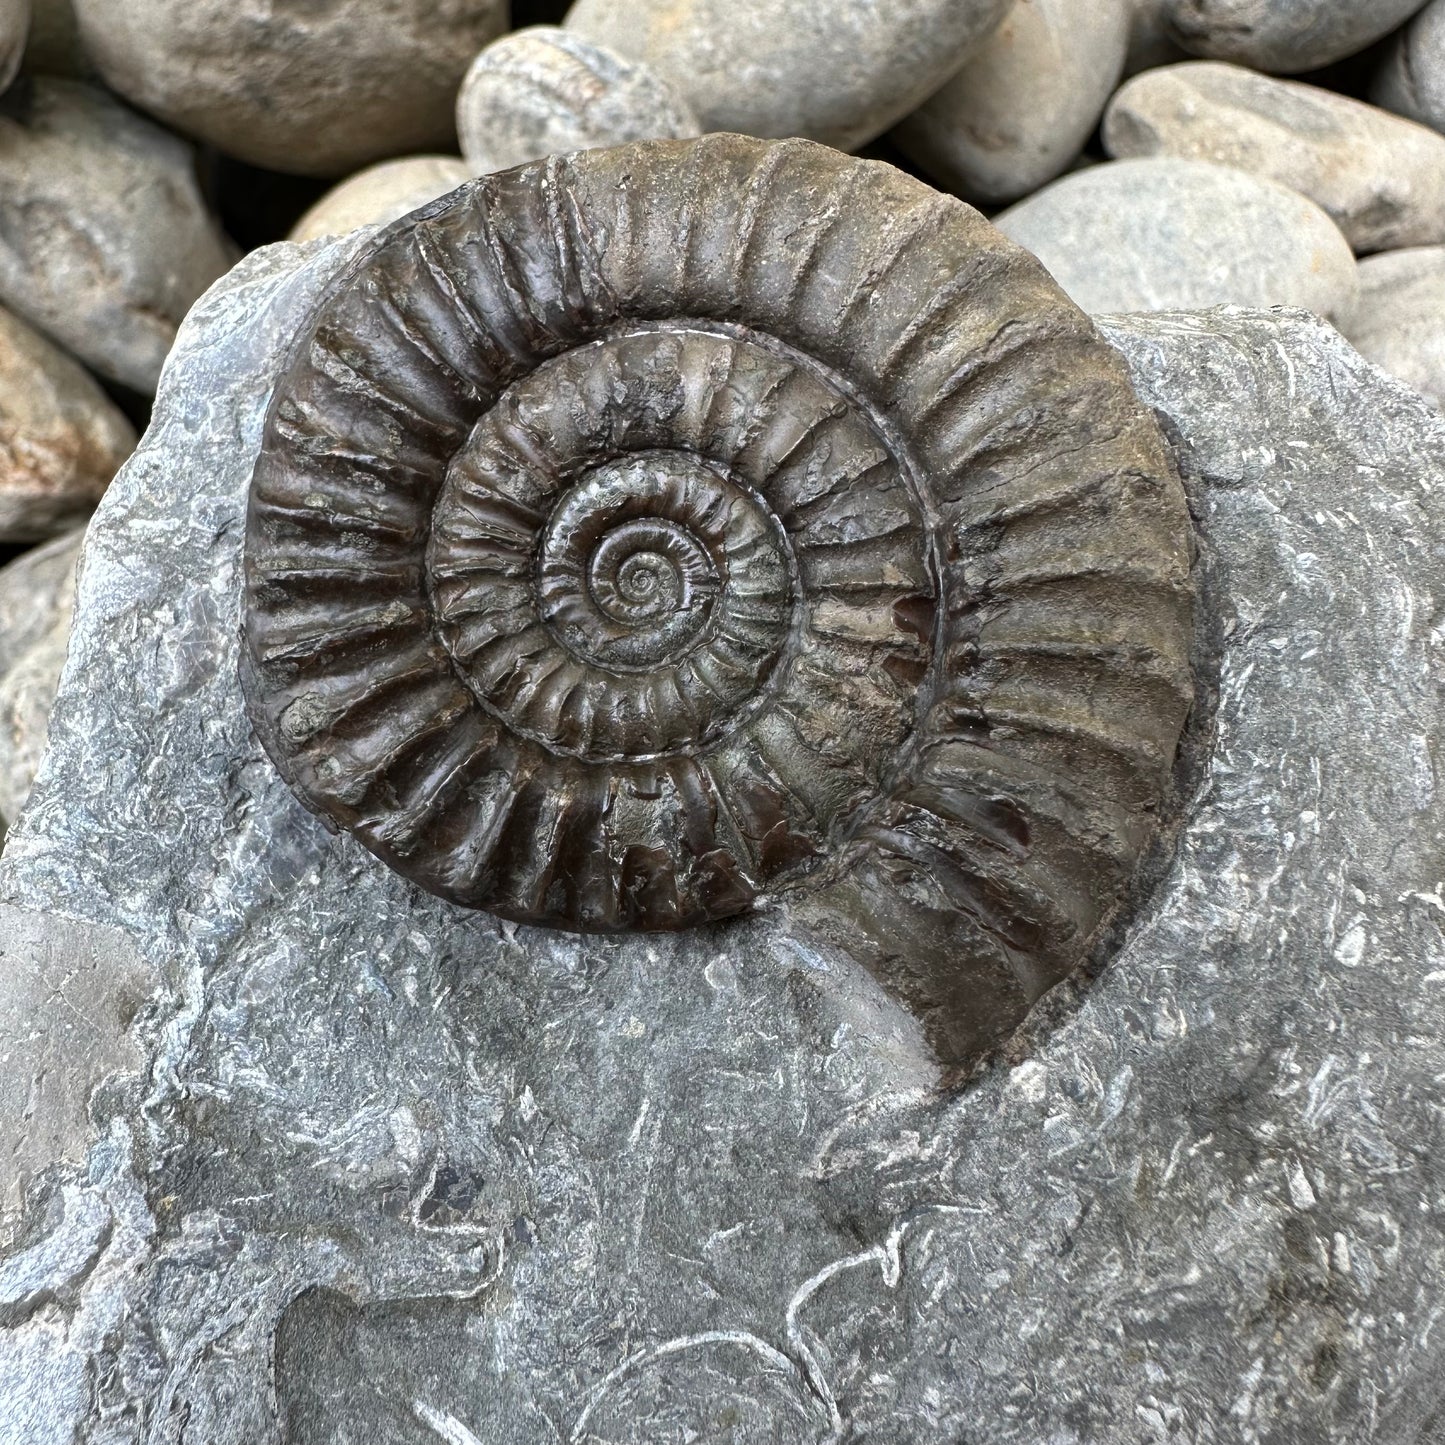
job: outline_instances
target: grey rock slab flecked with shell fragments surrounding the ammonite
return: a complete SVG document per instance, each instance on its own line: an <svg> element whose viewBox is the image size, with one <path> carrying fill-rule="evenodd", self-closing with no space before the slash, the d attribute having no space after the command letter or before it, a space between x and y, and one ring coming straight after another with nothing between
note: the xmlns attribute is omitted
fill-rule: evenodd
<svg viewBox="0 0 1445 1445"><path fill-rule="evenodd" d="M121 925L162 983L144 1069L0 1261L0 1439L1438 1438L1423 402L1303 315L1113 327L1191 487L1217 736L1098 981L935 1092L910 1022L786 919L462 915L264 763L246 490L266 377L347 253L260 253L201 303L92 526L0 886Z"/></svg>

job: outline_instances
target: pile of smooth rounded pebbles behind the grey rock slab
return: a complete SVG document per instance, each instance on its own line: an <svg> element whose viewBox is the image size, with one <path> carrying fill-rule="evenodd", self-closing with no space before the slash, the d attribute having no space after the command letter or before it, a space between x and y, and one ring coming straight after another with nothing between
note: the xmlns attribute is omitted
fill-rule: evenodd
<svg viewBox="0 0 1445 1445"><path fill-rule="evenodd" d="M0 0L0 827L188 308L473 175L808 136L1090 312L1302 306L1445 405L1445 0Z"/></svg>

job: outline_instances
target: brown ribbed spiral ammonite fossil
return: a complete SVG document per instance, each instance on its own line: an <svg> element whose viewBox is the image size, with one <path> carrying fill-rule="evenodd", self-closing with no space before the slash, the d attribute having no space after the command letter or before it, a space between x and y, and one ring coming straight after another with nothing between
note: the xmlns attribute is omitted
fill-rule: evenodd
<svg viewBox="0 0 1445 1445"><path fill-rule="evenodd" d="M458 903L676 929L879 880L1056 972L1169 786L1189 535L1120 358L974 211L649 142L473 182L331 286L244 681L308 806Z"/></svg>

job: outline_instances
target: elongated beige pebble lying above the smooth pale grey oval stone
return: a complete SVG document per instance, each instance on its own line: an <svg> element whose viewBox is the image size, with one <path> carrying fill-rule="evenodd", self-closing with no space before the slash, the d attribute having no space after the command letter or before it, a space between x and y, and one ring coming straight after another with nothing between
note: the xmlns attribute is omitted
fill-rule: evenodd
<svg viewBox="0 0 1445 1445"><path fill-rule="evenodd" d="M1445 137L1316 85L1218 61L1147 71L1110 101L1104 146L1269 176L1324 207L1357 251L1445 241Z"/></svg>

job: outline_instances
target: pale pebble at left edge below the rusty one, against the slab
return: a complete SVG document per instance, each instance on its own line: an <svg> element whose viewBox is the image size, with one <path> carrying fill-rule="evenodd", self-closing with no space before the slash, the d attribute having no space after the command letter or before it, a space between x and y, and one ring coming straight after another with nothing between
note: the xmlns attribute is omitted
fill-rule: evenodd
<svg viewBox="0 0 1445 1445"><path fill-rule="evenodd" d="M0 828L19 818L65 666L85 529L0 568Z"/></svg>

